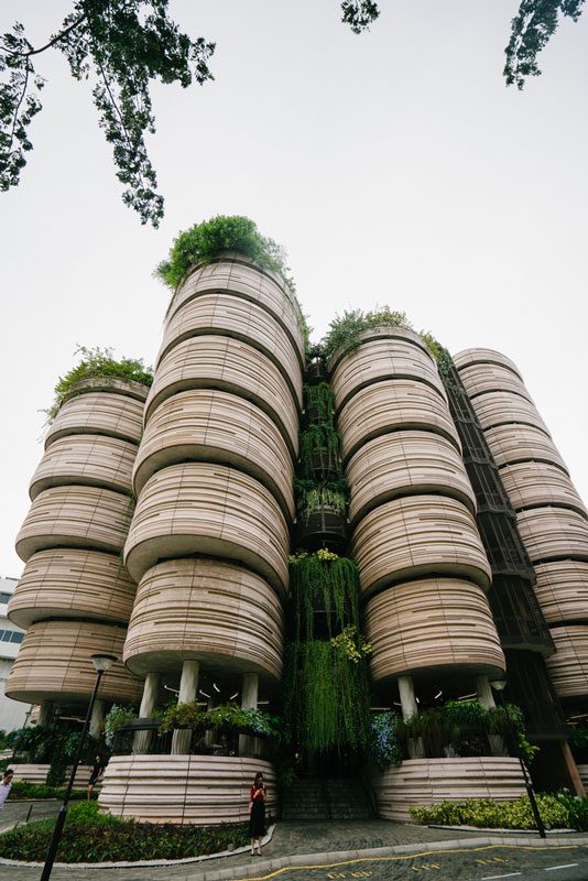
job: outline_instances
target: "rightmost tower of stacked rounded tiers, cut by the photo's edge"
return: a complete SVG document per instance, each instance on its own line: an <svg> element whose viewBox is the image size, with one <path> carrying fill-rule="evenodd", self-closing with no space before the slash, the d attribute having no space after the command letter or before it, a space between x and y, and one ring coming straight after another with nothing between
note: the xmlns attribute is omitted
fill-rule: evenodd
<svg viewBox="0 0 588 881"><path fill-rule="evenodd" d="M546 665L568 707L588 695L588 512L516 366L491 349L455 357L533 563L556 652Z"/></svg>

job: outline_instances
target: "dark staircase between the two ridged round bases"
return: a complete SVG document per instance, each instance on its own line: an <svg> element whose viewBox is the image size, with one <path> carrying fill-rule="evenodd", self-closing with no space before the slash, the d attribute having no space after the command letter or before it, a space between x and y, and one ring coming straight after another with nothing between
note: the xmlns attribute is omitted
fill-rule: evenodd
<svg viewBox="0 0 588 881"><path fill-rule="evenodd" d="M282 793L282 819L371 819L373 811L359 780L296 780Z"/></svg>

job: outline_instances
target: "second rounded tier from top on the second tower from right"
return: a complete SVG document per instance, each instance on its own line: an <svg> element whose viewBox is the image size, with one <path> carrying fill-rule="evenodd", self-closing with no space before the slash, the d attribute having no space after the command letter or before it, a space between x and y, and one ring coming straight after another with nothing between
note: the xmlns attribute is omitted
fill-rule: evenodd
<svg viewBox="0 0 588 881"><path fill-rule="evenodd" d="M385 380L361 389L339 412L337 424L345 460L367 440L399 428L434 432L461 452L446 401L415 380Z"/></svg>

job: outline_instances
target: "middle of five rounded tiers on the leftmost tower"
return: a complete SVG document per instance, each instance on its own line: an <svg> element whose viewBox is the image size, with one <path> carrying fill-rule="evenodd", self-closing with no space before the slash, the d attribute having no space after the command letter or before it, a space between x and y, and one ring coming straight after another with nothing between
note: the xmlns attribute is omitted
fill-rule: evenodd
<svg viewBox="0 0 588 881"><path fill-rule="evenodd" d="M25 563L50 547L85 547L118 554L132 516L128 496L97 487L52 487L32 503L17 535Z"/></svg>

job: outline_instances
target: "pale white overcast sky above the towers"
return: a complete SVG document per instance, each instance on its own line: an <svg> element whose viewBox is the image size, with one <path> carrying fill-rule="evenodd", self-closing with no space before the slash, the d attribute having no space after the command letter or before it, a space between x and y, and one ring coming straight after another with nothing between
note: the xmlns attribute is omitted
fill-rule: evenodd
<svg viewBox="0 0 588 881"><path fill-rule="evenodd" d="M501 70L515 0L381 0L371 32L338 0L176 0L217 41L216 80L156 87L157 231L120 200L87 83L58 53L20 187L0 194L0 574L42 455L44 416L76 344L152 363L177 232L244 214L283 243L315 337L346 308L389 304L454 354L510 356L588 498L586 231L588 11L566 21L520 94ZM45 42L70 3L3 0Z"/></svg>

